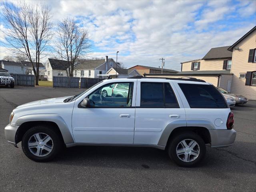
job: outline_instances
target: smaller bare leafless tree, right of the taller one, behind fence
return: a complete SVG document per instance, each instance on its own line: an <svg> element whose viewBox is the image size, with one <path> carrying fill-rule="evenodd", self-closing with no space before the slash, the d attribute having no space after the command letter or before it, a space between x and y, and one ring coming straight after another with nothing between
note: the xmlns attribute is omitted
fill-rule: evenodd
<svg viewBox="0 0 256 192"><path fill-rule="evenodd" d="M56 53L62 60L68 61L68 74L72 77L76 62L90 50L88 32L79 28L74 19L65 18L58 24L56 39Z"/></svg>

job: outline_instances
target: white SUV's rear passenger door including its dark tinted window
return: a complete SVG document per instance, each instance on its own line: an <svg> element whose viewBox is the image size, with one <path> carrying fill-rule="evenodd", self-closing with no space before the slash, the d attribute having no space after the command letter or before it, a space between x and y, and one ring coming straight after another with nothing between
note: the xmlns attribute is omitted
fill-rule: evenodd
<svg viewBox="0 0 256 192"><path fill-rule="evenodd" d="M177 91L174 92L168 81L139 81L141 80L137 84L134 144L158 145L168 124L184 120L186 126L186 113L180 98L175 96Z"/></svg>

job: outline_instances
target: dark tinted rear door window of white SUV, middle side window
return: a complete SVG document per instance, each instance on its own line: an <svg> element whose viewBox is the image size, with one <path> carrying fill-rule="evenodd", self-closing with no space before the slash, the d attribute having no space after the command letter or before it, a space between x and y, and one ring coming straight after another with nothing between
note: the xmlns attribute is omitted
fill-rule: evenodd
<svg viewBox="0 0 256 192"><path fill-rule="evenodd" d="M140 107L179 108L169 83L142 82Z"/></svg>

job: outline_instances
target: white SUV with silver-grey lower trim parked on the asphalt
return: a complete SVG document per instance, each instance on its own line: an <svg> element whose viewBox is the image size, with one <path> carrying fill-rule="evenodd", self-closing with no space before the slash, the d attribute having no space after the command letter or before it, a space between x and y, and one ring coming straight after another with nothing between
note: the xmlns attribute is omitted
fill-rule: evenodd
<svg viewBox="0 0 256 192"><path fill-rule="evenodd" d="M103 96L113 84L128 94ZM116 89L117 90L117 89ZM77 145L140 146L166 150L176 164L194 166L211 147L234 143L233 114L222 94L203 80L103 80L72 97L18 106L5 128L8 142L28 158L47 161Z"/></svg>

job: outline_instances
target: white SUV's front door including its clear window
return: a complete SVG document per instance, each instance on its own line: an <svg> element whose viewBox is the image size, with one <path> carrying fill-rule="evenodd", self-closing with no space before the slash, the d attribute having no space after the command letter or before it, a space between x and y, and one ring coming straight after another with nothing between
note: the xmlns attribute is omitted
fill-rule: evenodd
<svg viewBox="0 0 256 192"><path fill-rule="evenodd" d="M88 108L75 104L72 115L75 142L133 143L136 82L120 82L119 89L115 88L116 82L92 92L87 96L90 99Z"/></svg>

